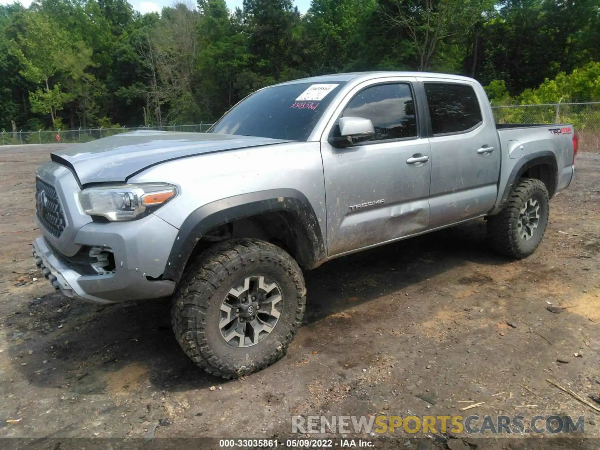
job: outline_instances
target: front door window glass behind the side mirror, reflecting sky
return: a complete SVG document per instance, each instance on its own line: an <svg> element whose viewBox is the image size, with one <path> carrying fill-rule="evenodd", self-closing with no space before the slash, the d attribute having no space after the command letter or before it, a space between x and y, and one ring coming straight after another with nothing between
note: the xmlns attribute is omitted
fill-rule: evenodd
<svg viewBox="0 0 600 450"><path fill-rule="evenodd" d="M406 83L363 89L350 100L342 116L371 119L375 128L371 142L417 136L415 101Z"/></svg>

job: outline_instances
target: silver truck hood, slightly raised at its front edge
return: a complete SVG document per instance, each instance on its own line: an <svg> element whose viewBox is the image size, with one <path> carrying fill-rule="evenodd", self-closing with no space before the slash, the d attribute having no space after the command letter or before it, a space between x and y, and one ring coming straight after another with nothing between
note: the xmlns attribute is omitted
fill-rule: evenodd
<svg viewBox="0 0 600 450"><path fill-rule="evenodd" d="M82 185L125 182L148 167L204 153L259 147L288 140L215 133L132 131L52 152L55 163L70 167Z"/></svg>

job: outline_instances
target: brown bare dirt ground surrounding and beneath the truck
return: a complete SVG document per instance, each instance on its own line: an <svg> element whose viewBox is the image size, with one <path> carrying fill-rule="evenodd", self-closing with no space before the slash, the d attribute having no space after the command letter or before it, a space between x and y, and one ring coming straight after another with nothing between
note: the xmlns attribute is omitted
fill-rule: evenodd
<svg viewBox="0 0 600 450"><path fill-rule="evenodd" d="M599 413L546 381L600 407L600 154L578 155L529 259L492 254L476 221L326 263L305 272L286 357L226 381L179 349L168 302L73 301L37 271L34 172L51 148L0 148L0 437L289 437L294 415L470 413L583 415L600 436ZM484 403L459 412L467 401ZM550 448L542 438L377 443Z"/></svg>

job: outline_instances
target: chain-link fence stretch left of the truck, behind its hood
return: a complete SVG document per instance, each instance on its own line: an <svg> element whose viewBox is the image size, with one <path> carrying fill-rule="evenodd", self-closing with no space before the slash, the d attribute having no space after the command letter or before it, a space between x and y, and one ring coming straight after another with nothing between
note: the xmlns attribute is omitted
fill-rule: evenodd
<svg viewBox="0 0 600 450"><path fill-rule="evenodd" d="M212 127L212 124L196 125L167 125L166 127L122 127L122 128L88 128L79 130L58 130L58 131L2 131L0 133L0 143L2 145L23 145L23 144L50 144L50 143L79 143L89 142L100 139L101 137L112 136L113 134L129 133L136 130L157 130L157 131L187 131L188 133L205 133ZM57 137L58 136L58 137Z"/></svg>

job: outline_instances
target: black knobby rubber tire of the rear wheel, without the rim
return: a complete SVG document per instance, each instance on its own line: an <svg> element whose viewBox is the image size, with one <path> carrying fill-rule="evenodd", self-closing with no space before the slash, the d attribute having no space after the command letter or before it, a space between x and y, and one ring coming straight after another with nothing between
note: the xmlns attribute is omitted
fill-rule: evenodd
<svg viewBox="0 0 600 450"><path fill-rule="evenodd" d="M523 239L518 232L521 209L529 199L540 206L538 227L529 239ZM488 243L494 251L505 256L521 259L530 256L542 242L548 215L550 214L548 190L543 182L535 178L522 178L509 196L499 214L488 217Z"/></svg>

